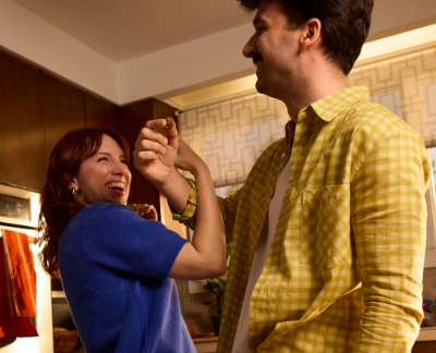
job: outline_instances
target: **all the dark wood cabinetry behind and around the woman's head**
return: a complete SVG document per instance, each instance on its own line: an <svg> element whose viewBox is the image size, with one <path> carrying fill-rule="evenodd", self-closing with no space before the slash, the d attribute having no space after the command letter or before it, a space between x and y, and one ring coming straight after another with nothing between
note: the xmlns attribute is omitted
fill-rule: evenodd
<svg viewBox="0 0 436 353"><path fill-rule="evenodd" d="M175 118L174 109L159 100L118 107L0 50L0 183L39 192L51 150L70 130L111 127L133 153L146 121L167 117ZM133 161L129 167L130 202L153 204L159 212L159 192Z"/></svg>

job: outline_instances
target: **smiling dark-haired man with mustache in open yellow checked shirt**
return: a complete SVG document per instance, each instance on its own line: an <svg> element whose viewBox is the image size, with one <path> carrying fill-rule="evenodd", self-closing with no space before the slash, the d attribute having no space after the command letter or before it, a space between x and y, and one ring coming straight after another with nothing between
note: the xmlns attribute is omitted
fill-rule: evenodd
<svg viewBox="0 0 436 353"><path fill-rule="evenodd" d="M422 320L422 138L346 76L373 0L240 0L257 10L243 49L256 88L282 100L286 138L219 198L232 257L218 352L410 352ZM148 122L135 166L193 224L195 183ZM198 209L201 208L201 205Z"/></svg>

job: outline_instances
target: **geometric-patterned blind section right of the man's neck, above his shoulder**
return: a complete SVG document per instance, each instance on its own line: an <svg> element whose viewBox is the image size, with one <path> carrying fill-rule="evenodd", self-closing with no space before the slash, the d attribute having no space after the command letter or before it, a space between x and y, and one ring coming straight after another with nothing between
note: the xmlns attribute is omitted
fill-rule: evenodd
<svg viewBox="0 0 436 353"><path fill-rule="evenodd" d="M436 48L358 65L347 85L368 86L374 101L401 117L427 148L436 146Z"/></svg>

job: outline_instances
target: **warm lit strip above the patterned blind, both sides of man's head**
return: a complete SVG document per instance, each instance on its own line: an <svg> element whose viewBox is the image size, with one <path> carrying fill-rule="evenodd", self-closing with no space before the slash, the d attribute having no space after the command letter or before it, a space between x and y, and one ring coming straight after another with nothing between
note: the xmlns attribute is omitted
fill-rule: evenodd
<svg viewBox="0 0 436 353"><path fill-rule="evenodd" d="M367 59L429 44L432 41L436 44L436 24L366 42L362 48L362 53L358 59L358 63ZM256 75L250 75L172 97L169 98L168 101L170 104L175 104L182 110L187 110L223 99L230 99L245 93L255 92L256 80Z"/></svg>

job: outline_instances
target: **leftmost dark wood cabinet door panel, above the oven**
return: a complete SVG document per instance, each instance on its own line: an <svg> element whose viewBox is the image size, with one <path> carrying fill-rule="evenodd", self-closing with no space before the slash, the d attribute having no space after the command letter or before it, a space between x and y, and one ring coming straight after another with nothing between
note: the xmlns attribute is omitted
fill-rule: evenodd
<svg viewBox="0 0 436 353"><path fill-rule="evenodd" d="M45 181L41 73L0 51L0 182L39 191Z"/></svg>

